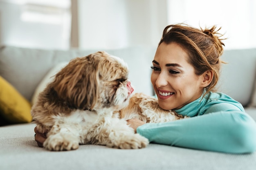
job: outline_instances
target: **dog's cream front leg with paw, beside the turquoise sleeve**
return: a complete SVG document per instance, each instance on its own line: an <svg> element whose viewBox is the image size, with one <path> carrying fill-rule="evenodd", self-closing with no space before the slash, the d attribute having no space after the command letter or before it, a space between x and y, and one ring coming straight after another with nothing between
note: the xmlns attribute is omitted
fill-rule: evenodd
<svg viewBox="0 0 256 170"><path fill-rule="evenodd" d="M133 128L129 127L124 119L113 118L106 128L109 135L101 141L101 144L108 147L137 149L145 148L149 143L145 137L135 134Z"/></svg>

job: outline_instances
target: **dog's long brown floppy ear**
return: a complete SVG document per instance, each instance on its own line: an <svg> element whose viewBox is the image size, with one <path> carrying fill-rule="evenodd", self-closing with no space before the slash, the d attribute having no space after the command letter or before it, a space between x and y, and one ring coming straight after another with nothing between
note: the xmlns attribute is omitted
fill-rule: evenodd
<svg viewBox="0 0 256 170"><path fill-rule="evenodd" d="M99 71L92 55L75 58L56 74L53 88L73 108L93 109L97 102Z"/></svg>

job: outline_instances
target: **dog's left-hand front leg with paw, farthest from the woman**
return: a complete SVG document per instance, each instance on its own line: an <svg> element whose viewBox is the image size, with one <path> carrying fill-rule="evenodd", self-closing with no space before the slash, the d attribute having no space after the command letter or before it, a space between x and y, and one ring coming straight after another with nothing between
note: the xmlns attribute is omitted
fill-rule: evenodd
<svg viewBox="0 0 256 170"><path fill-rule="evenodd" d="M43 146L48 150L75 150L79 147L79 131L74 124L55 124Z"/></svg>

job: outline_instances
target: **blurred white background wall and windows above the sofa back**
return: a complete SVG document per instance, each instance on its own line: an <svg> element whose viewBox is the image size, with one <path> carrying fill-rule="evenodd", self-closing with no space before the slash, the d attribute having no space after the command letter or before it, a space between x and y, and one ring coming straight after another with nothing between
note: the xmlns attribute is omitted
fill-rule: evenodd
<svg viewBox="0 0 256 170"><path fill-rule="evenodd" d="M256 0L0 0L0 44L11 46L157 46L180 22L221 26L226 49L256 47Z"/></svg>

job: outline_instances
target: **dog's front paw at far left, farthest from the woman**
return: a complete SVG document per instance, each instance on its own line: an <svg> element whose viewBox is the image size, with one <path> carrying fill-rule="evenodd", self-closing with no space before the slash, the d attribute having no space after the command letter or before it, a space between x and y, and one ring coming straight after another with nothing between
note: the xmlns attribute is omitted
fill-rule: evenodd
<svg viewBox="0 0 256 170"><path fill-rule="evenodd" d="M44 148L52 151L75 150L79 147L79 142L72 135L50 135L43 144Z"/></svg>

